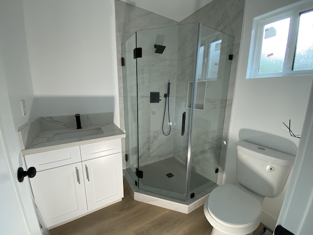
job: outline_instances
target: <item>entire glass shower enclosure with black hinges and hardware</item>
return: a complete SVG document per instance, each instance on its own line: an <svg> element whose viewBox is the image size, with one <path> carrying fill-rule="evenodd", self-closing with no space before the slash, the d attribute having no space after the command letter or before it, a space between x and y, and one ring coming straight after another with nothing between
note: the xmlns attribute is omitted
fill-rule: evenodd
<svg viewBox="0 0 313 235"><path fill-rule="evenodd" d="M122 45L130 184L181 201L216 186L233 42L193 23Z"/></svg>

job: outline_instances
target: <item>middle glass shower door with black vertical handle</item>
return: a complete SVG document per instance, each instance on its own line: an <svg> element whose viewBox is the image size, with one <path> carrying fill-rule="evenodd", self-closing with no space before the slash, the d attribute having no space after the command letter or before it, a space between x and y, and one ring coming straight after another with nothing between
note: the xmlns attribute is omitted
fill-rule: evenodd
<svg viewBox="0 0 313 235"><path fill-rule="evenodd" d="M183 63L194 67L196 39L191 39L197 31L191 34L192 28L174 25L136 34L136 47L142 48L142 58L137 58L138 153L139 170L143 171L139 188L181 200L186 197L189 126L183 96L193 74L179 68Z"/></svg>

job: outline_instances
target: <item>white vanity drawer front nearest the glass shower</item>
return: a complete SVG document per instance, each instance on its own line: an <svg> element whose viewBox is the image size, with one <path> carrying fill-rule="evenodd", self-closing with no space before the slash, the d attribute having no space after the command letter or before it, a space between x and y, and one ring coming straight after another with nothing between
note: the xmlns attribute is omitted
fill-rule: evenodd
<svg viewBox="0 0 313 235"><path fill-rule="evenodd" d="M90 143L80 146L82 161L103 157L113 153L119 153L122 151L121 149L120 139Z"/></svg>

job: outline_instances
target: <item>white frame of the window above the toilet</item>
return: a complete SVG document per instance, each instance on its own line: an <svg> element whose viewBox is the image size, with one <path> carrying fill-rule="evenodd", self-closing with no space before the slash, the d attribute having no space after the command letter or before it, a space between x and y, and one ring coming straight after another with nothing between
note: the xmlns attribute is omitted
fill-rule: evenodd
<svg viewBox="0 0 313 235"><path fill-rule="evenodd" d="M253 19L251 45L248 61L248 69L246 78L262 78L262 77L281 77L281 76L296 76L296 75L312 75L313 70L292 71L295 47L298 37L298 28L300 13L313 10L313 2L292 7L284 11L276 11L270 15L261 16ZM289 35L286 46L286 54L282 72L262 73L259 74L259 64L264 38L264 26L275 21L290 18Z"/></svg>

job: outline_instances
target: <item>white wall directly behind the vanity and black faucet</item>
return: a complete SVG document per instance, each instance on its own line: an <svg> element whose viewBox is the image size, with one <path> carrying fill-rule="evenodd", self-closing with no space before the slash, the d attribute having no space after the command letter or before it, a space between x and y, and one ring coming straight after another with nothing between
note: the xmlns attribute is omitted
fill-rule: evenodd
<svg viewBox="0 0 313 235"><path fill-rule="evenodd" d="M112 101L119 125L115 1L23 3L36 100L31 115L111 112Z"/></svg>

